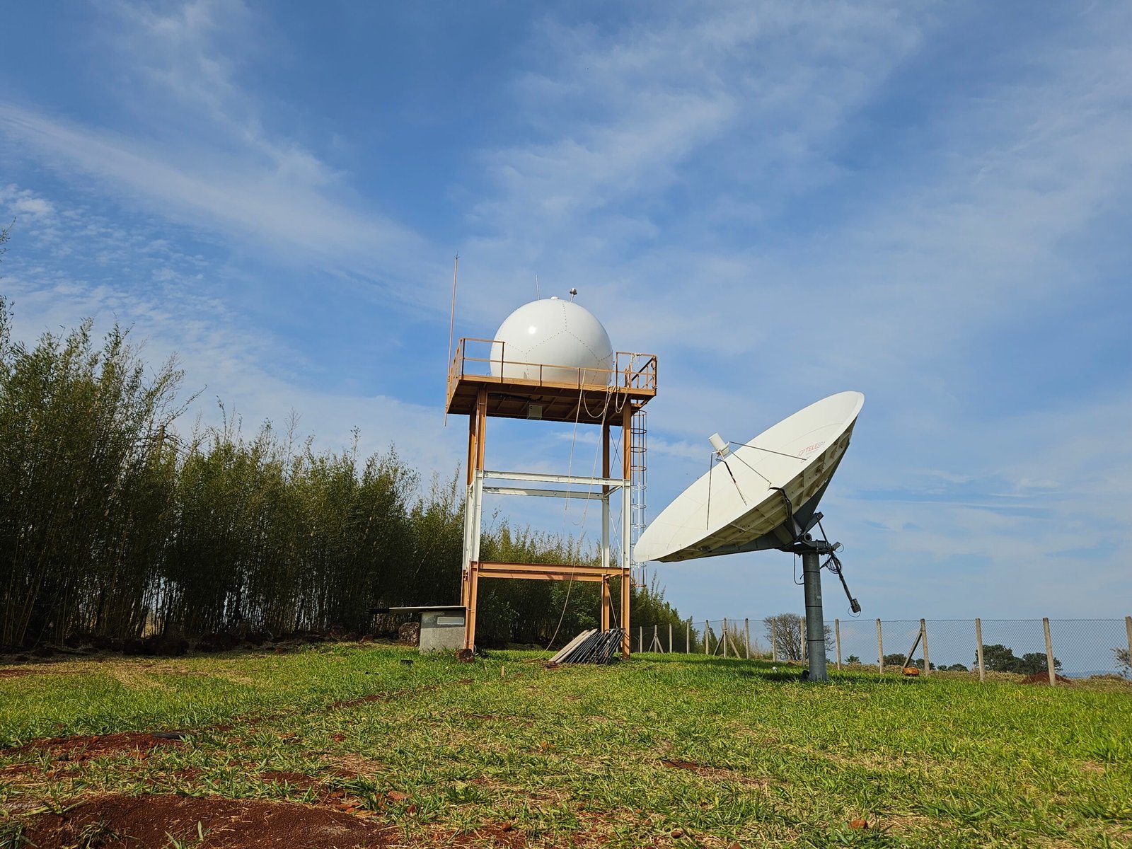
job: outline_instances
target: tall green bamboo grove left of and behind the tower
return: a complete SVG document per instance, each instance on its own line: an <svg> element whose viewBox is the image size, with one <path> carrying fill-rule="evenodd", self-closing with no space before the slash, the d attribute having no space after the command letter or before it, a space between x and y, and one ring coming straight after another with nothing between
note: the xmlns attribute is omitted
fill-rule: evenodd
<svg viewBox="0 0 1132 849"><path fill-rule="evenodd" d="M371 606L454 603L463 537L456 474L422 486L391 449L316 452L228 417L179 437L182 374L155 371L86 321L34 346L0 298L0 643L87 634L195 637L255 629L366 632ZM592 561L575 540L498 525L492 560ZM655 585L634 616L683 627ZM593 585L482 588L484 644L595 627Z"/></svg>

